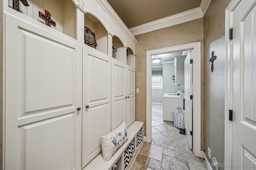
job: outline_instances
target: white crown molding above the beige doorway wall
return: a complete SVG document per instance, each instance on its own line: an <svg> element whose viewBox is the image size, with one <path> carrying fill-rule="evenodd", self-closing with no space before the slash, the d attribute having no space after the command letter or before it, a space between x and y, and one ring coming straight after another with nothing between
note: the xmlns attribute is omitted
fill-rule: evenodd
<svg viewBox="0 0 256 170"><path fill-rule="evenodd" d="M132 27L129 30L135 35L140 35L150 31L155 31L157 29L162 29L170 27L172 25L177 25L180 23L197 20L203 18L212 0L202 0L200 7L194 8L192 10L184 11L179 14L161 18L152 22L144 23L136 27Z"/></svg>

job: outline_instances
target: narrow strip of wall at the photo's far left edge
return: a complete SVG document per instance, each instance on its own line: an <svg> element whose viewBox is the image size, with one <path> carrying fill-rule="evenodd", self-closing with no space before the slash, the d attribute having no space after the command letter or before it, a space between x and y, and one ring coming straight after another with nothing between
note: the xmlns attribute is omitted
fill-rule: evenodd
<svg viewBox="0 0 256 170"><path fill-rule="evenodd" d="M3 153L3 1L0 1L0 170Z"/></svg>

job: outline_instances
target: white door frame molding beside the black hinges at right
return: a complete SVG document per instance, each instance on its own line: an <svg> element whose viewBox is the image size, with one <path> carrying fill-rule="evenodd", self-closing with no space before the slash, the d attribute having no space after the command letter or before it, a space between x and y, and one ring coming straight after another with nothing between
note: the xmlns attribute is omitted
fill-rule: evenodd
<svg viewBox="0 0 256 170"><path fill-rule="evenodd" d="M233 40L229 39L229 29L233 27L232 12L241 0L232 0L225 10L225 145L224 162L232 163L232 121L229 120L229 109L233 109ZM225 170L231 170L231 167L225 167Z"/></svg>

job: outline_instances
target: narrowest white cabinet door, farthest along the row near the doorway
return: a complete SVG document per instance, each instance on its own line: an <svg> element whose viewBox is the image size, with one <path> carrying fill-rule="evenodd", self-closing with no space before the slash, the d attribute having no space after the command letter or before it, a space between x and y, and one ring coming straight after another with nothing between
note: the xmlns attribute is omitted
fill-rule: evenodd
<svg viewBox="0 0 256 170"><path fill-rule="evenodd" d="M127 66L127 119L126 126L135 121L135 69Z"/></svg>

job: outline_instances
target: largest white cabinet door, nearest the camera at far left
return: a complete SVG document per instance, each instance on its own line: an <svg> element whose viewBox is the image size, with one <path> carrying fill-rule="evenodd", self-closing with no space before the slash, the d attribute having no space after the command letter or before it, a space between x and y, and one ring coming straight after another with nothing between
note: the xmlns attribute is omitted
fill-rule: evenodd
<svg viewBox="0 0 256 170"><path fill-rule="evenodd" d="M80 169L80 46L37 21L5 20L5 169Z"/></svg>

